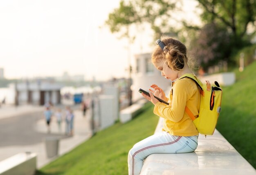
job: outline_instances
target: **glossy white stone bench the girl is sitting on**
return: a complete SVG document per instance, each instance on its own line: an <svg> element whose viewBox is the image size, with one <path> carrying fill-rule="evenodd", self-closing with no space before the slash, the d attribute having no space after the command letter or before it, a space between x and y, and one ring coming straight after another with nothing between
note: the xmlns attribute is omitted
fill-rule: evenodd
<svg viewBox="0 0 256 175"><path fill-rule="evenodd" d="M162 130L160 118L156 132ZM253 151L253 150L252 150ZM256 170L217 131L199 135L193 153L151 154L144 160L140 175L256 175Z"/></svg>

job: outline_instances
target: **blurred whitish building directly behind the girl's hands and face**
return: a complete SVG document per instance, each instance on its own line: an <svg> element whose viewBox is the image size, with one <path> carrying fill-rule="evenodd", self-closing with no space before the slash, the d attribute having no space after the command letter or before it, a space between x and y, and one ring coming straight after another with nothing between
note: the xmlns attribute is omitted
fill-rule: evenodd
<svg viewBox="0 0 256 175"><path fill-rule="evenodd" d="M139 88L148 91L150 85L157 84L165 91L171 86L171 82L162 77L161 72L153 66L150 53L135 55L135 68L133 70L135 70L132 75L133 102L143 98L138 92Z"/></svg>

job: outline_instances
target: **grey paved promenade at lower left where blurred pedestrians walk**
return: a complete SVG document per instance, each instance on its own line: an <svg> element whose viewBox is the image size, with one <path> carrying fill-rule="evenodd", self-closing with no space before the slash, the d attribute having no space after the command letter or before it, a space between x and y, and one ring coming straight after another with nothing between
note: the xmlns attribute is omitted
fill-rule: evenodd
<svg viewBox="0 0 256 175"><path fill-rule="evenodd" d="M60 106L63 111L63 106ZM11 109L12 108L12 109ZM51 162L56 157L47 158L45 150L45 138L58 137L59 155L72 150L77 145L91 137L90 110L85 117L74 106L74 135L66 136L65 123L62 123L61 131L58 129L56 118L51 122L51 133L47 133L43 110L41 106L23 106L19 109L8 106L0 109L0 161L21 152L37 153L37 168ZM13 112L13 111L16 112Z"/></svg>

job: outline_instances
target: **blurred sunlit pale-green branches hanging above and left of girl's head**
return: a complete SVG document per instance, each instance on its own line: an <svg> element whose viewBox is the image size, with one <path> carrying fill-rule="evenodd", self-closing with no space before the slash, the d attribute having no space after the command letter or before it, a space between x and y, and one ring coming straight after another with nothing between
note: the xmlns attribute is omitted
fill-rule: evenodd
<svg viewBox="0 0 256 175"><path fill-rule="evenodd" d="M129 36L129 27L132 24L151 25L159 38L163 33L170 33L173 27L168 25L171 11L175 9L175 1L166 0L121 0L119 7L109 14L106 24L112 33L121 33L122 37Z"/></svg>

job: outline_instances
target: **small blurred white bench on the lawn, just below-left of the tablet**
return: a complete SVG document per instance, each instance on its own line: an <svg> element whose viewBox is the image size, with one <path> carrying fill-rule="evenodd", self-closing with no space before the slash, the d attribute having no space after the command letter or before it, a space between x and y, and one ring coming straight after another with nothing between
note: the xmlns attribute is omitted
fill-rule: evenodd
<svg viewBox="0 0 256 175"><path fill-rule="evenodd" d="M147 102L146 99L139 100L135 104L128 106L126 109L120 111L120 122L126 123L132 120L133 117L138 115L141 112L141 108Z"/></svg>

